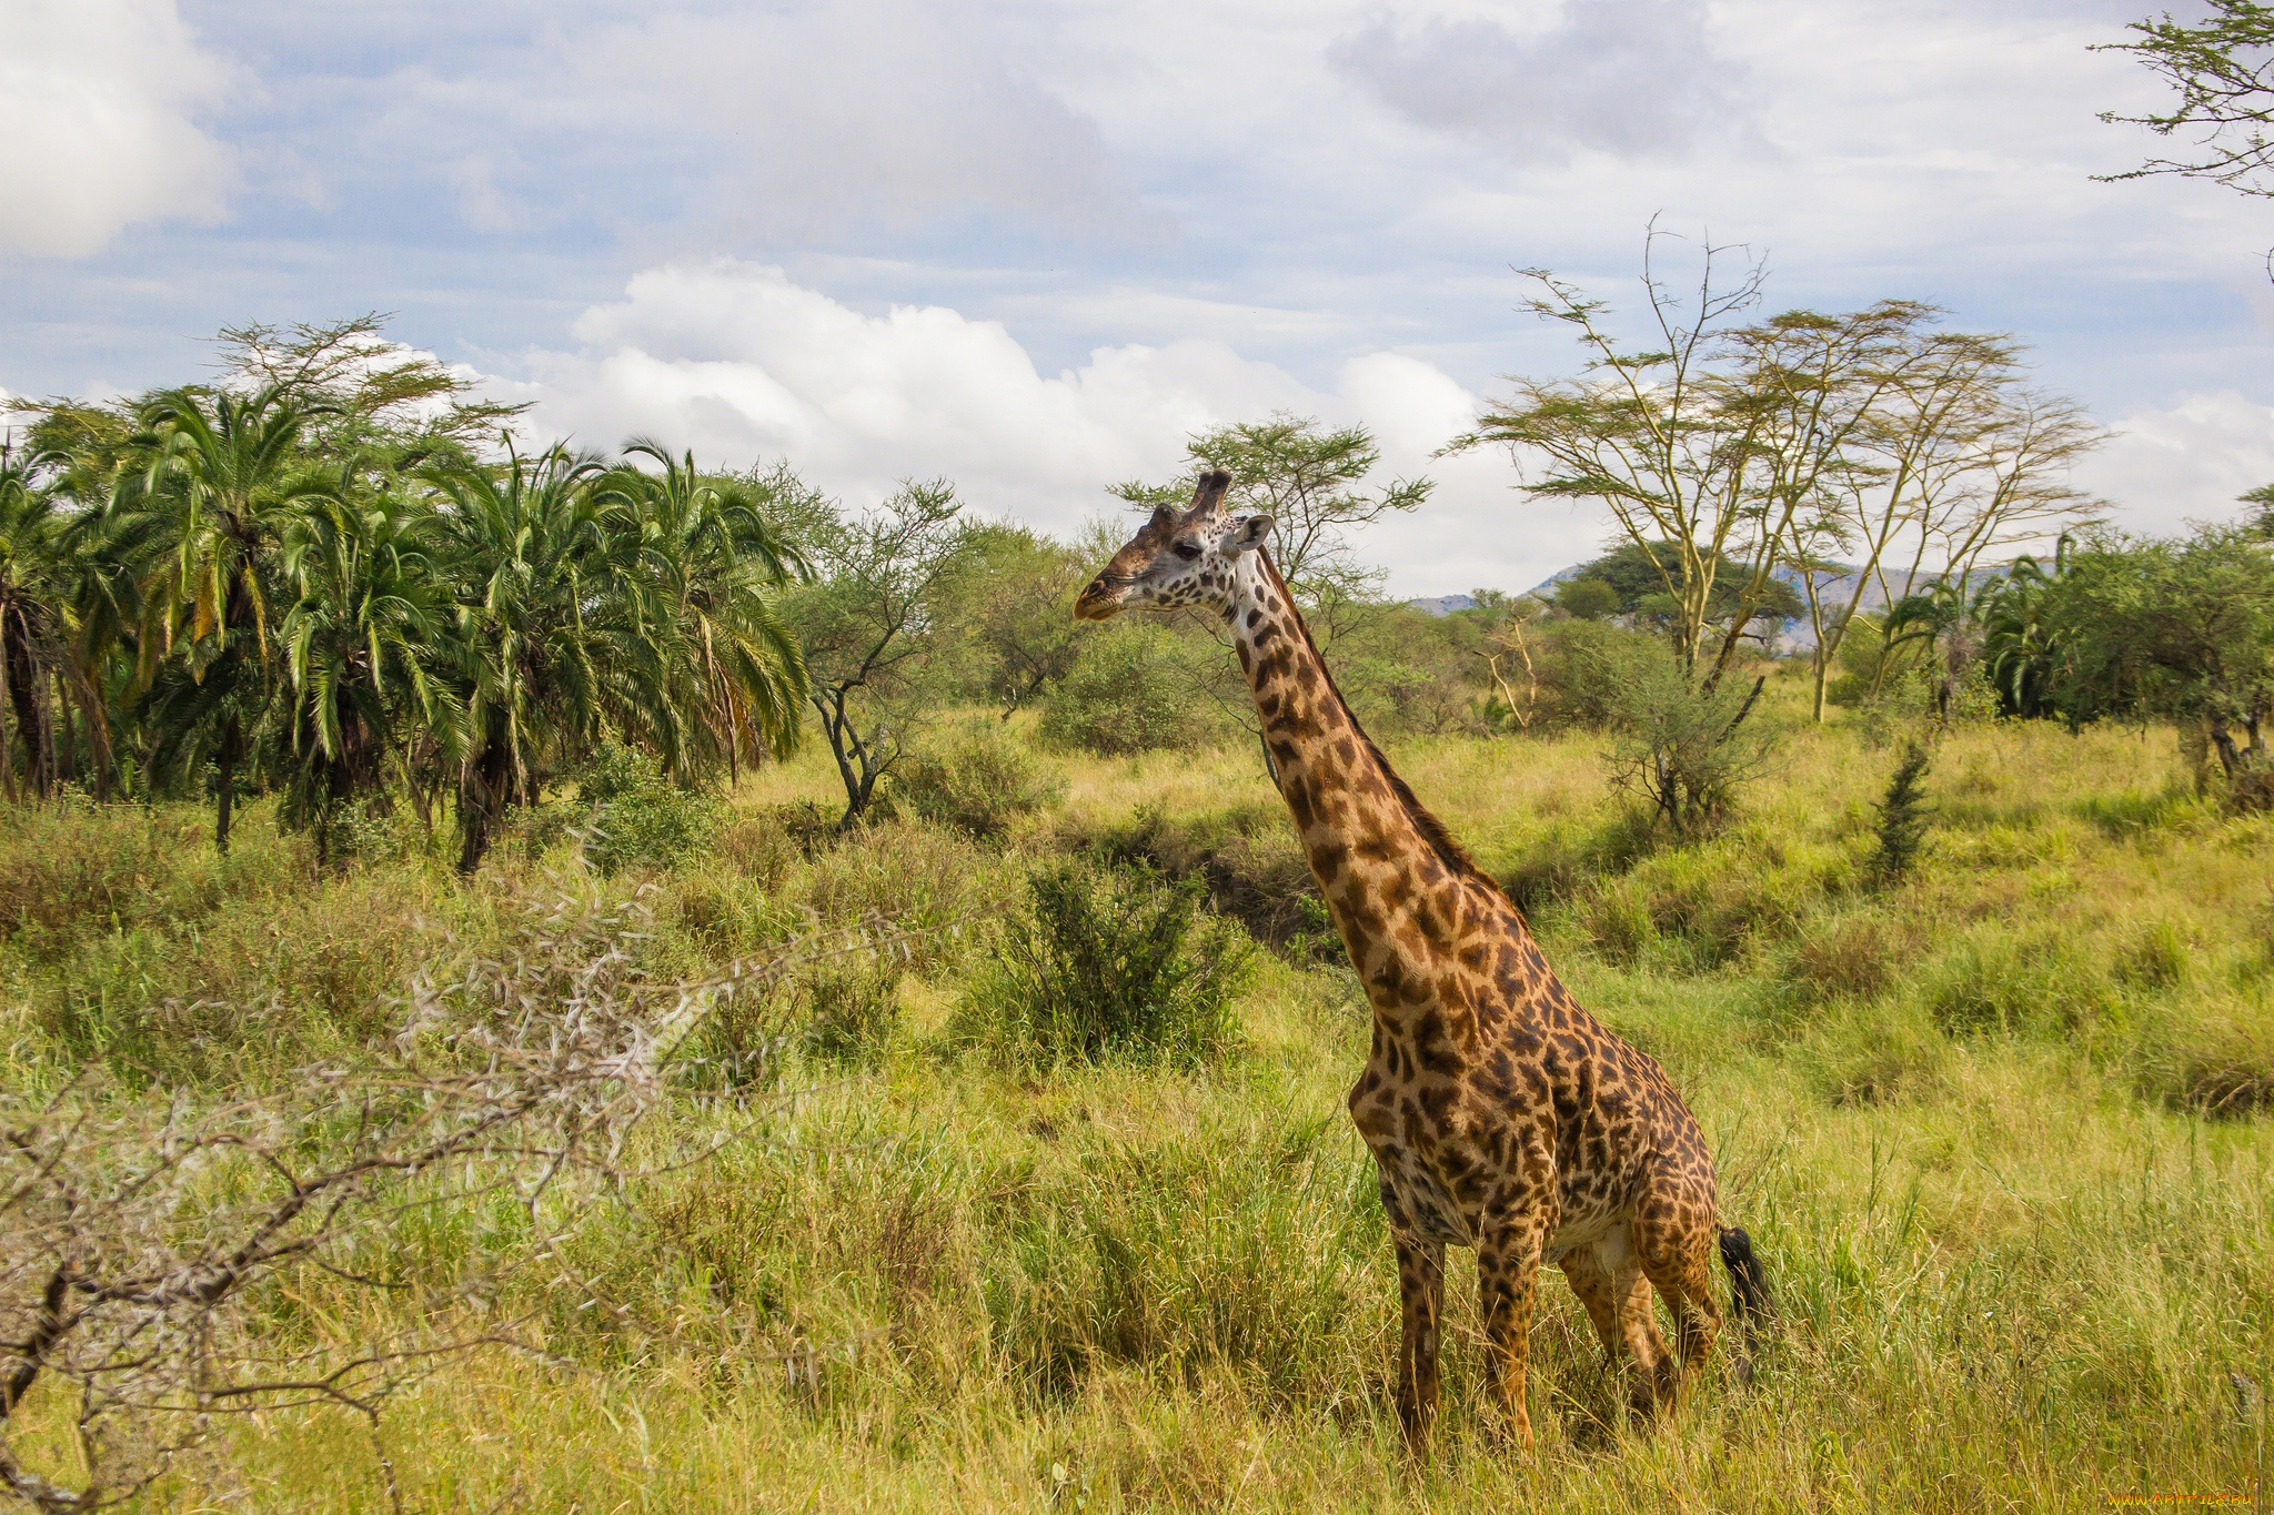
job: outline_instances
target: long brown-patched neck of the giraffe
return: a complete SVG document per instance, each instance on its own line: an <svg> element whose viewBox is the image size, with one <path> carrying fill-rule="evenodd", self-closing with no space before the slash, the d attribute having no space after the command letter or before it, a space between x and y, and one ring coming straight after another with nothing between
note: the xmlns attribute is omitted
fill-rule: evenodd
<svg viewBox="0 0 2274 1515"><path fill-rule="evenodd" d="M1230 629L1312 877L1385 1011L1421 959L1467 929L1458 879L1335 693L1294 595L1262 552L1239 559Z"/></svg>

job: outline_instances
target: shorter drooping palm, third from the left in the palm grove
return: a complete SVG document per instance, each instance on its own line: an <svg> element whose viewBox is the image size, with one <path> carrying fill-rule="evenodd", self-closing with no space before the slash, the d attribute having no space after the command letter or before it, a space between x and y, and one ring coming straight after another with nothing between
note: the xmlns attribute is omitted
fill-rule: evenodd
<svg viewBox="0 0 2274 1515"><path fill-rule="evenodd" d="M400 491L352 493L343 479L284 541L298 595L277 638L291 677L284 802L289 822L314 829L318 865L332 859L341 806L384 800L400 727L432 736L446 756L462 745L464 706L443 668L455 627L432 550L439 522Z"/></svg>

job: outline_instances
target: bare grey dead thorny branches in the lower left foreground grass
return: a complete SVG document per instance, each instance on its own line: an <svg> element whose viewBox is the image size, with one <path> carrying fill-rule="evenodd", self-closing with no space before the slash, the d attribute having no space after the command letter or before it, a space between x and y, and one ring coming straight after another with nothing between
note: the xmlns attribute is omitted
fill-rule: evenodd
<svg viewBox="0 0 2274 1515"><path fill-rule="evenodd" d="M557 1256L580 1199L698 1163L757 1131L753 1099L794 1097L748 1049L728 1068L705 1054L712 1013L912 940L871 918L689 984L641 970L646 924L637 895L532 902L509 952L416 979L384 1045L275 1093L211 1102L82 1074L0 1095L0 1485L43 1510L100 1508L216 1415L332 1404L375 1426L382 1399L455 1354L537 1349L498 1306L509 1258ZM634 1149L659 1104L721 1097L719 1120ZM475 1240L457 1277L421 1277L400 1233L441 1213ZM382 1290L387 1308L366 1311L380 1324L355 1345L318 1329L323 1288L348 1315ZM75 1397L77 1470L23 1454L16 1411L34 1392Z"/></svg>

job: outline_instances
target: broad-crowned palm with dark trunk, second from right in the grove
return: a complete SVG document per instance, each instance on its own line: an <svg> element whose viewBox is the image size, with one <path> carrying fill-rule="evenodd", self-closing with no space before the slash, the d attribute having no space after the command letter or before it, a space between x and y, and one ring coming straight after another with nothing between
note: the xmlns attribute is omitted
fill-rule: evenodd
<svg viewBox="0 0 2274 1515"><path fill-rule="evenodd" d="M507 806L534 804L548 768L582 756L607 720L675 731L653 620L630 593L639 522L598 488L605 472L564 445L525 459L507 443L500 468L428 475L457 593L462 872L480 868Z"/></svg>

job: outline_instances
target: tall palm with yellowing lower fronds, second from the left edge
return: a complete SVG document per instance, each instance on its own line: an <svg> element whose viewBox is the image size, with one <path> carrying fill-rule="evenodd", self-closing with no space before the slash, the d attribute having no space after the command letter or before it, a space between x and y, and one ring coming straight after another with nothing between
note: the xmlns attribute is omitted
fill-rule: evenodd
<svg viewBox="0 0 2274 1515"><path fill-rule="evenodd" d="M248 734L277 686L268 622L282 541L312 504L337 495L302 457L309 413L275 384L252 395L161 391L139 407L143 459L114 497L121 531L150 552L139 681L152 768L211 759L221 852ZM180 659L168 656L175 643Z"/></svg>

